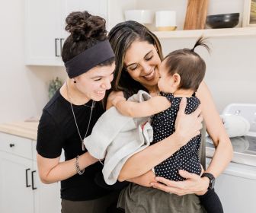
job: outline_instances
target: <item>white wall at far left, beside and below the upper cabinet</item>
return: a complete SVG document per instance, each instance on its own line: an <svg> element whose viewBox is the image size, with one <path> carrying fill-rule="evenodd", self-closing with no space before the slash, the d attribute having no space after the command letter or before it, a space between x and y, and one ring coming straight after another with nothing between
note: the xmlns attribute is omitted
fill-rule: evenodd
<svg viewBox="0 0 256 213"><path fill-rule="evenodd" d="M1 1L0 20L0 122L40 116L47 84L65 72L24 65L24 0Z"/></svg>

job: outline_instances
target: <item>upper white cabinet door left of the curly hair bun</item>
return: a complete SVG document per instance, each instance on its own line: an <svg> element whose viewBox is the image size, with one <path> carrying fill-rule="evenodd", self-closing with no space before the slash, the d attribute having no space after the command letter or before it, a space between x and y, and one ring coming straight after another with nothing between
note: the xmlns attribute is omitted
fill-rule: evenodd
<svg viewBox="0 0 256 213"><path fill-rule="evenodd" d="M26 65L62 65L62 0L26 0Z"/></svg>

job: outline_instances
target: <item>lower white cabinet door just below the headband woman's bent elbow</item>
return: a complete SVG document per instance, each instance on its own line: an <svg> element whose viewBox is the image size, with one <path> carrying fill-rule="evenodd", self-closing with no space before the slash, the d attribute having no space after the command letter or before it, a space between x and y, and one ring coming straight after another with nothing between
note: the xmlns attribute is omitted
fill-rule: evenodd
<svg viewBox="0 0 256 213"><path fill-rule="evenodd" d="M56 213L61 211L60 183L41 183L34 162L34 205L35 213Z"/></svg>

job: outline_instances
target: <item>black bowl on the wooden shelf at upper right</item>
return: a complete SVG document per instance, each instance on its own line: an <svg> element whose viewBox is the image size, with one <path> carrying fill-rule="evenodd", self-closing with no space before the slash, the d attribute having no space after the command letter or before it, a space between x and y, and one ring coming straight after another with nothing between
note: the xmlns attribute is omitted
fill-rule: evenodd
<svg viewBox="0 0 256 213"><path fill-rule="evenodd" d="M232 28L238 25L239 17L219 17L218 15L209 15L206 17L207 26L216 28Z"/></svg>

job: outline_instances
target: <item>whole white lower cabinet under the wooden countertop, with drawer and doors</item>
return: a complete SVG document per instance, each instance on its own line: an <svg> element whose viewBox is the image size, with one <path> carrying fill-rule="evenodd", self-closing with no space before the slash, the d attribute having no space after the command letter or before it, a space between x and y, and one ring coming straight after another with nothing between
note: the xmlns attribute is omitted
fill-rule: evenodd
<svg viewBox="0 0 256 213"><path fill-rule="evenodd" d="M60 212L59 183L40 182L36 142L0 132L0 212Z"/></svg>

